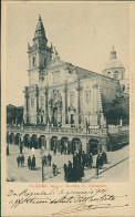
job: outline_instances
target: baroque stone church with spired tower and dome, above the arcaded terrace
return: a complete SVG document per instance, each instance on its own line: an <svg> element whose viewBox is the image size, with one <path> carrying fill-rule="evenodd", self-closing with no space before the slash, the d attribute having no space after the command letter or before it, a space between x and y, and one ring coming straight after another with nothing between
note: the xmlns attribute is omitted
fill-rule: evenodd
<svg viewBox="0 0 135 217"><path fill-rule="evenodd" d="M52 126L104 126L104 105L111 102L125 69L113 48L102 74L79 68L60 59L48 45L42 19L28 44L29 86L24 87L24 123Z"/></svg>

